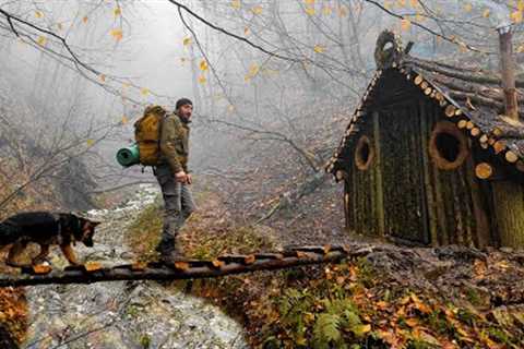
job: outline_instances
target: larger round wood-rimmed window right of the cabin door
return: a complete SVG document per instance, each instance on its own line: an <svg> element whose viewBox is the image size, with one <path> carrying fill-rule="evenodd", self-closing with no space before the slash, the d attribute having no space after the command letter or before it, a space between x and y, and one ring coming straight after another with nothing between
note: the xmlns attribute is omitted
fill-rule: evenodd
<svg viewBox="0 0 524 349"><path fill-rule="evenodd" d="M429 155L441 170L458 168L468 155L467 139L452 122L440 121L431 133Z"/></svg>

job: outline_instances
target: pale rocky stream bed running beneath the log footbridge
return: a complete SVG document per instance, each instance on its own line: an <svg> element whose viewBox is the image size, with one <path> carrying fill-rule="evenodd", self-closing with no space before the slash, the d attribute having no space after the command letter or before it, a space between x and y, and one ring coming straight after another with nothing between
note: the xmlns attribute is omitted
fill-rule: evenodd
<svg viewBox="0 0 524 349"><path fill-rule="evenodd" d="M88 212L103 224L95 248L76 245L79 256L103 264L133 261L123 245L127 225L156 195L155 186L145 185L126 205ZM67 265L56 253L51 263ZM24 348L68 340L63 348L248 348L241 326L219 309L155 281L38 286L27 288L27 300L31 327Z"/></svg>

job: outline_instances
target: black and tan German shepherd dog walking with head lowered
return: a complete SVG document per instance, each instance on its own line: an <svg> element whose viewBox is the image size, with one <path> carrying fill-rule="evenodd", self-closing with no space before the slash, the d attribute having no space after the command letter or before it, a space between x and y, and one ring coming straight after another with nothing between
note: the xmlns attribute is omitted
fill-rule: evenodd
<svg viewBox="0 0 524 349"><path fill-rule="evenodd" d="M11 216L0 222L0 249L10 248L7 265L20 267L15 258L29 242L38 243L40 252L32 264L43 263L49 246L58 244L71 265L79 265L72 244L76 241L93 246L93 234L99 221L92 221L72 213L27 212Z"/></svg>

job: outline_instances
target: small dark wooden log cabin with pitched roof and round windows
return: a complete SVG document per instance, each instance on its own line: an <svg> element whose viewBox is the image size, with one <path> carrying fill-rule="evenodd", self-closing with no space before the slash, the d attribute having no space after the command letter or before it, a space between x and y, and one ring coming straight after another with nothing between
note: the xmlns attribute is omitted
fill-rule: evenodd
<svg viewBox="0 0 524 349"><path fill-rule="evenodd" d="M377 71L327 163L344 183L347 229L524 248L524 123L505 112L500 74L412 57L412 45L379 36Z"/></svg>

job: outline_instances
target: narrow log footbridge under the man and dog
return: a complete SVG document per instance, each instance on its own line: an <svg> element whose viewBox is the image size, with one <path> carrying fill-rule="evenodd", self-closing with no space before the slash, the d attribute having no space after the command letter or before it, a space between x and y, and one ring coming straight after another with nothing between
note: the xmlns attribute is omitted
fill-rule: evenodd
<svg viewBox="0 0 524 349"><path fill-rule="evenodd" d="M340 263L346 258L368 255L377 249L377 246L362 245L296 246L274 253L223 255L213 261L135 262L117 266L104 266L98 262L87 262L79 266L68 266L64 269L52 269L48 265L35 265L20 268L19 274L0 276L0 287L212 278L310 264Z"/></svg>

